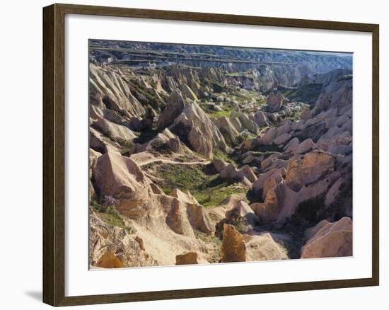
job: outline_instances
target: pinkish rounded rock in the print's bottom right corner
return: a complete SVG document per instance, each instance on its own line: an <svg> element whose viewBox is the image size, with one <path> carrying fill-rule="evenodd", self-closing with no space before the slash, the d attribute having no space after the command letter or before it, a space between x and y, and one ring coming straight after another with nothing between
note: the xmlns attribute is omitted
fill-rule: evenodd
<svg viewBox="0 0 389 310"><path fill-rule="evenodd" d="M301 258L352 256L352 219L342 217L338 222L320 222L318 228L301 249Z"/></svg>

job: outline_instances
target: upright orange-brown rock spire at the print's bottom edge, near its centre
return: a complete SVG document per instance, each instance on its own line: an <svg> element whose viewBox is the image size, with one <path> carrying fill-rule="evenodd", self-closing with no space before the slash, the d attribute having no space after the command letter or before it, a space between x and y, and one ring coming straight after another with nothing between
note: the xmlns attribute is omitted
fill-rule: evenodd
<svg viewBox="0 0 389 310"><path fill-rule="evenodd" d="M223 243L221 244L221 263L246 261L246 248L243 236L233 225L223 224Z"/></svg>

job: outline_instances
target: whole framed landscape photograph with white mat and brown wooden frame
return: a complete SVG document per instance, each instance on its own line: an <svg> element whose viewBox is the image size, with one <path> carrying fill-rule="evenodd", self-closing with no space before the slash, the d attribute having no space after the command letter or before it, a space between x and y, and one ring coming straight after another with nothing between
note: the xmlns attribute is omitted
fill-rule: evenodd
<svg viewBox="0 0 389 310"><path fill-rule="evenodd" d="M43 9L43 299L378 285L378 25Z"/></svg>

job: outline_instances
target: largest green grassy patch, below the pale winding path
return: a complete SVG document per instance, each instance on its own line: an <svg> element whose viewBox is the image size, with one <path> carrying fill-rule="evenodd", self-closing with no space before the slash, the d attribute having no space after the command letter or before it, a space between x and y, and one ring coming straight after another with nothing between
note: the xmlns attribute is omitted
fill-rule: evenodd
<svg viewBox="0 0 389 310"><path fill-rule="evenodd" d="M158 166L156 173L159 178L163 178L158 182L158 186L166 194L170 194L175 188L182 191L189 190L204 207L221 205L221 202L231 195L247 191L243 185L221 179L217 174L208 173L207 166L199 164L163 163Z"/></svg>

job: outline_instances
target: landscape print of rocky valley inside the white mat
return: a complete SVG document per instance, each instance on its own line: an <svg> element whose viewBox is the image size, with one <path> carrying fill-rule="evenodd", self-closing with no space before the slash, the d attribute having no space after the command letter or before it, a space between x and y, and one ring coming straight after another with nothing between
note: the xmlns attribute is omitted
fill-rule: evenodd
<svg viewBox="0 0 389 310"><path fill-rule="evenodd" d="M353 255L351 53L88 44L91 269Z"/></svg>

